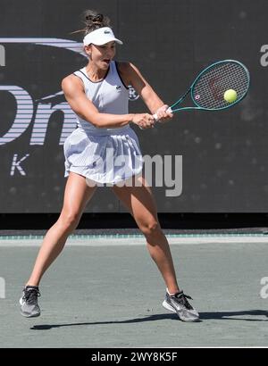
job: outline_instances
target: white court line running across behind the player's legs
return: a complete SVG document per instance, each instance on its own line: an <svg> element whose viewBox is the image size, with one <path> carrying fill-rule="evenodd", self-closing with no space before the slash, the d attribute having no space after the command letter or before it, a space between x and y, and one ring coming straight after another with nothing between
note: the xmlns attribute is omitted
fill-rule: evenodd
<svg viewBox="0 0 268 366"><path fill-rule="evenodd" d="M168 236L167 236L168 237ZM205 245L205 244L267 244L268 236L202 236L202 237L168 237L171 245ZM0 247L29 247L40 246L42 239L5 239L0 240ZM143 237L96 237L96 238L69 238L68 246L120 246L120 245L145 245Z"/></svg>

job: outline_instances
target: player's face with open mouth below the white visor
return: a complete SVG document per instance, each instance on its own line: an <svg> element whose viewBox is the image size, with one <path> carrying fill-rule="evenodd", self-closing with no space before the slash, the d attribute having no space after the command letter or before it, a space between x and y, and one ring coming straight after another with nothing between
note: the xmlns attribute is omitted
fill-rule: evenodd
<svg viewBox="0 0 268 366"><path fill-rule="evenodd" d="M109 42L102 46L88 46L90 61L94 62L97 68L107 70L115 55L115 42Z"/></svg>

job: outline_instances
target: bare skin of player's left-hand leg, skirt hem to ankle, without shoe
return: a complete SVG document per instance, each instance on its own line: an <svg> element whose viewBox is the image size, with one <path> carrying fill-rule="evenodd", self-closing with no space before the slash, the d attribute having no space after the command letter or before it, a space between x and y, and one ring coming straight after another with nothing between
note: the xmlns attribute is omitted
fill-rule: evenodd
<svg viewBox="0 0 268 366"><path fill-rule="evenodd" d="M63 210L46 233L27 285L38 286L42 275L61 253L68 236L78 226L82 212L95 189L96 187L88 187L84 177L70 173L65 187Z"/></svg>

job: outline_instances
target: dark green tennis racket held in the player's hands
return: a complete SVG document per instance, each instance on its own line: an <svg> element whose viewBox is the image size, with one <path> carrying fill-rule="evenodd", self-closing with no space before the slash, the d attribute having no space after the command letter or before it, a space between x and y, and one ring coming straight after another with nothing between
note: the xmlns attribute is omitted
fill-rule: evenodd
<svg viewBox="0 0 268 366"><path fill-rule="evenodd" d="M172 113L189 110L220 111L230 108L247 95L249 83L249 72L243 63L235 60L214 62L198 74L188 91L172 104L168 111ZM231 101L226 98L226 92L230 92ZM188 94L194 105L180 107ZM156 113L154 118L158 121Z"/></svg>

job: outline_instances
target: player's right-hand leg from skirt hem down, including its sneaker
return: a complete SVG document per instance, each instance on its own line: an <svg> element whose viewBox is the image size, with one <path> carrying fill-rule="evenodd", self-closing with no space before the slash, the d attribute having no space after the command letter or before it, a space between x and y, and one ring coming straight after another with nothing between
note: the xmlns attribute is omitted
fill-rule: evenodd
<svg viewBox="0 0 268 366"><path fill-rule="evenodd" d="M130 210L138 228L147 238L147 247L151 257L163 275L167 292L163 307L171 312L177 312L180 320L197 321L199 315L196 309L188 303L188 295L180 291L172 262L172 254L167 238L163 235L157 219L155 200L150 187L142 177L141 187L113 187L113 192Z"/></svg>

